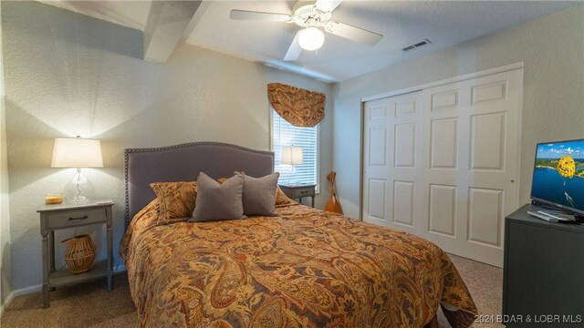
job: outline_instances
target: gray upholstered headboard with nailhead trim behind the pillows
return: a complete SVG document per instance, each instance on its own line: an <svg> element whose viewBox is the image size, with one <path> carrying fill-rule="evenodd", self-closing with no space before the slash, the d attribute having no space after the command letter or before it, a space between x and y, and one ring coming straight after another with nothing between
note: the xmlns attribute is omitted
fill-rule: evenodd
<svg viewBox="0 0 584 328"><path fill-rule="evenodd" d="M234 171L263 177L274 171L274 153L219 142L193 142L125 150L126 225L156 198L152 182L194 181L203 171L217 179Z"/></svg>

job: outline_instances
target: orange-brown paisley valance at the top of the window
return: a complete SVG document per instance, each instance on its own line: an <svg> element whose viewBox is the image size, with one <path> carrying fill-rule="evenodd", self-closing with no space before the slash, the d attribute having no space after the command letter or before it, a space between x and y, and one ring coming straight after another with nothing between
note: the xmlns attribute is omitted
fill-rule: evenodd
<svg viewBox="0 0 584 328"><path fill-rule="evenodd" d="M314 127L325 118L325 94L281 83L267 85L267 98L282 118L296 127Z"/></svg>

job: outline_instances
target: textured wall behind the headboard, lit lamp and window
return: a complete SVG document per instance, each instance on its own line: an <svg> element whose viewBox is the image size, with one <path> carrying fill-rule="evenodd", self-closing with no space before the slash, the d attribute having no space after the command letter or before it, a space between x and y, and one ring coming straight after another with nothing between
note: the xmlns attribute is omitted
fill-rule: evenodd
<svg viewBox="0 0 584 328"><path fill-rule="evenodd" d="M47 5L2 2L2 14L15 289L41 282L36 208L44 193L62 190L74 173L50 169L54 138L101 139L104 168L85 172L99 197L116 202L119 265L123 149L197 140L269 149L268 82L316 89L328 98L332 93L327 84L194 46L178 46L164 65L145 62L137 58L142 36L135 30ZM331 134L325 118L321 145L330 145ZM328 159L320 169L328 172L330 149L323 154ZM72 233L58 233L56 240ZM101 241L103 230L94 237Z"/></svg>

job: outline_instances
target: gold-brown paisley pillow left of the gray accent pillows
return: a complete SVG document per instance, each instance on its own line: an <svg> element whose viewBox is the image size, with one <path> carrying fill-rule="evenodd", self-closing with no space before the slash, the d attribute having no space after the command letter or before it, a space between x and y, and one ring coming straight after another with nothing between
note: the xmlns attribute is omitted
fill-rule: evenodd
<svg viewBox="0 0 584 328"><path fill-rule="evenodd" d="M154 182L150 186L159 201L158 225L191 217L197 198L196 181Z"/></svg>

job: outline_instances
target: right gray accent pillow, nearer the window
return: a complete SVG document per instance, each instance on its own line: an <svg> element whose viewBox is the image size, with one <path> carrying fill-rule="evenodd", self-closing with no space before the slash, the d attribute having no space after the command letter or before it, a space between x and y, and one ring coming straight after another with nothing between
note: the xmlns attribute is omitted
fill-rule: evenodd
<svg viewBox="0 0 584 328"><path fill-rule="evenodd" d="M244 214L276 216L276 186L280 173L262 178L244 177Z"/></svg>

